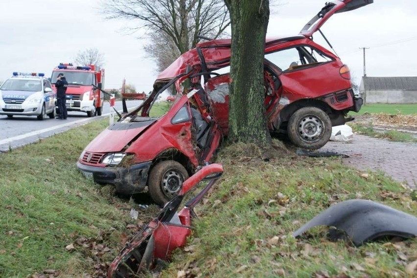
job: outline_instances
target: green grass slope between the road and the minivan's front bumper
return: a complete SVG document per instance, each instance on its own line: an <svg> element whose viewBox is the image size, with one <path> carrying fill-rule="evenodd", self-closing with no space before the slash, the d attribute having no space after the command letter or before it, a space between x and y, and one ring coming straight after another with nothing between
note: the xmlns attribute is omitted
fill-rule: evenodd
<svg viewBox="0 0 417 278"><path fill-rule="evenodd" d="M136 226L133 202L101 193L75 165L107 125L96 121L0 154L0 277L98 277L113 260L126 226Z"/></svg>

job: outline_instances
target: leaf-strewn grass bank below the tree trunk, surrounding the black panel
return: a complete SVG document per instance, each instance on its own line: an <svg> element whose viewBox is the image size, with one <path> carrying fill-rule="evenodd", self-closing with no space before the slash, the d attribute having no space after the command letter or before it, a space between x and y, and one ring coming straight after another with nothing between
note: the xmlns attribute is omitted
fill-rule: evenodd
<svg viewBox="0 0 417 278"><path fill-rule="evenodd" d="M362 173L343 166L343 158L299 157L283 146L282 156L261 162L236 148L220 151L222 180L197 207L200 218L194 222L189 245L175 253L162 277L415 274L417 238L355 247L349 241L331 242L324 227L311 229L300 239L291 236L331 204L348 199L370 199L415 215L417 202L410 191L382 172Z"/></svg>

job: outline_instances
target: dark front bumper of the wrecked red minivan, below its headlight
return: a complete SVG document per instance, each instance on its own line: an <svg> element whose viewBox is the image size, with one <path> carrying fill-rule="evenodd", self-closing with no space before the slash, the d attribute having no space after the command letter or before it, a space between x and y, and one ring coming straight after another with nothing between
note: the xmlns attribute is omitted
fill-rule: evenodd
<svg viewBox="0 0 417 278"><path fill-rule="evenodd" d="M116 192L134 194L142 192L148 180L148 172L152 161L122 167L96 167L77 162L78 170L85 177L93 177L99 184L113 184Z"/></svg>

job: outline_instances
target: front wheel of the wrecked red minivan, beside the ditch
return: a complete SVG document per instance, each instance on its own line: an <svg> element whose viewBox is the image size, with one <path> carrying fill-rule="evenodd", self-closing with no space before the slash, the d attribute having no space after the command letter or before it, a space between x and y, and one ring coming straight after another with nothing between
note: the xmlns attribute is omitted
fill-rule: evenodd
<svg viewBox="0 0 417 278"><path fill-rule="evenodd" d="M159 162L148 178L149 194L155 203L163 205L178 195L187 178L188 172L179 162L173 160Z"/></svg>

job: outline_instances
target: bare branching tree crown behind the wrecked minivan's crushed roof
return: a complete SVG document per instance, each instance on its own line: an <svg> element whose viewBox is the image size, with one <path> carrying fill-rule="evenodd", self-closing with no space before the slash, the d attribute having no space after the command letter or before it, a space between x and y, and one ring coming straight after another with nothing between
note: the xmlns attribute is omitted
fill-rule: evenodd
<svg viewBox="0 0 417 278"><path fill-rule="evenodd" d="M230 25L223 0L102 0L101 5L107 19L137 21L129 30L147 31L152 41L145 50L160 68L194 48L199 36L216 39Z"/></svg>

